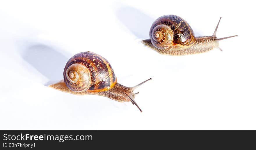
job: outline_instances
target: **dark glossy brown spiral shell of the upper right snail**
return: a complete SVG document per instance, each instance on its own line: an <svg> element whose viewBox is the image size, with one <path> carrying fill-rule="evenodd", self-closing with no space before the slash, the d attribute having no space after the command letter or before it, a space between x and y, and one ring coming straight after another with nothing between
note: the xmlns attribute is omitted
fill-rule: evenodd
<svg viewBox="0 0 256 150"><path fill-rule="evenodd" d="M176 15L157 18L150 28L150 41L159 49L182 50L195 42L190 25Z"/></svg>

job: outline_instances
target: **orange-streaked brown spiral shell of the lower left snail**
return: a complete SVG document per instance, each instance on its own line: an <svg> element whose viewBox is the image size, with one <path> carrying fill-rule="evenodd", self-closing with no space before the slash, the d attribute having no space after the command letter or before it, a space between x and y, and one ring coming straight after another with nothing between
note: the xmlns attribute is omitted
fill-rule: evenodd
<svg viewBox="0 0 256 150"><path fill-rule="evenodd" d="M64 82L73 91L101 92L113 88L117 82L109 62L93 52L81 52L68 60Z"/></svg>

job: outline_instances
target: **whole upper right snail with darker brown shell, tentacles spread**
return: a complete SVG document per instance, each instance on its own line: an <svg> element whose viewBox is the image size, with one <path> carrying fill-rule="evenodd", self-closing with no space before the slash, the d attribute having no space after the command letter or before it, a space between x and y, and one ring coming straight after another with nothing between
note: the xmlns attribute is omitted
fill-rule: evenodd
<svg viewBox="0 0 256 150"><path fill-rule="evenodd" d="M219 41L234 36L216 37L220 21L221 18L212 36L195 37L190 25L181 17L176 15L161 16L154 21L150 28L150 39L142 42L163 55L191 55L204 53L214 48L221 50Z"/></svg>

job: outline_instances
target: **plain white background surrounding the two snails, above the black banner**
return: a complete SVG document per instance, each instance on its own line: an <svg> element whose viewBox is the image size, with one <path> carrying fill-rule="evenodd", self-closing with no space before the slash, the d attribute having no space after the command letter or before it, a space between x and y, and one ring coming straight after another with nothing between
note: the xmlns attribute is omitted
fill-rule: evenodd
<svg viewBox="0 0 256 150"><path fill-rule="evenodd" d="M178 3L177 3L178 2ZM0 129L256 129L255 14L246 1L1 1ZM153 21L184 18L196 36L217 37L221 52L161 55L143 44ZM93 51L131 102L47 87L69 58Z"/></svg>

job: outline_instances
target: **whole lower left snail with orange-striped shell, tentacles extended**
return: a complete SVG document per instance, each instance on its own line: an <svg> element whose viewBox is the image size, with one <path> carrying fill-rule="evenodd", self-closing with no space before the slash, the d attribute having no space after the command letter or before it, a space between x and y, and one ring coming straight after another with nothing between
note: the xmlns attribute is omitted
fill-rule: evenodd
<svg viewBox="0 0 256 150"><path fill-rule="evenodd" d="M117 83L115 73L109 62L102 56L93 52L81 52L68 60L64 72L64 79L49 87L75 95L100 95L109 97L115 101L131 101L138 109L133 91L146 81L133 86L126 87Z"/></svg>

